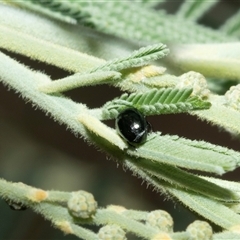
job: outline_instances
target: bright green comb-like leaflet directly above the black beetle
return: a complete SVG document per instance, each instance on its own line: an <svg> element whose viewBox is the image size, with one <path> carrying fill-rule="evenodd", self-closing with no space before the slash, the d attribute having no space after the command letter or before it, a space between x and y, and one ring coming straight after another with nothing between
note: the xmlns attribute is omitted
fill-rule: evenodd
<svg viewBox="0 0 240 240"><path fill-rule="evenodd" d="M126 107L135 107L145 115L154 115L187 112L211 106L209 102L192 96L191 93L191 88L163 88L152 89L145 93L125 93L103 106L103 118L115 118Z"/></svg>

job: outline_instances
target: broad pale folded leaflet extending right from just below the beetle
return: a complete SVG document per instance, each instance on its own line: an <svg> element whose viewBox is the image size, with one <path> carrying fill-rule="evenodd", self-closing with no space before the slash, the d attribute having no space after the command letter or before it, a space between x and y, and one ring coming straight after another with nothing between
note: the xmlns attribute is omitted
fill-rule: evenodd
<svg viewBox="0 0 240 240"><path fill-rule="evenodd" d="M157 133L149 135L146 143L128 153L159 163L216 174L233 171L238 167L240 158L239 152L224 147L209 143L203 148L202 141Z"/></svg>

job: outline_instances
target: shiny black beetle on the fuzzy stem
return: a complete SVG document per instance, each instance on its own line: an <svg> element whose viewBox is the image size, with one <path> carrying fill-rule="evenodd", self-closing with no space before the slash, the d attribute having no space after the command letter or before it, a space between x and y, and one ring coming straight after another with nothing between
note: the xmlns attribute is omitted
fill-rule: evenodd
<svg viewBox="0 0 240 240"><path fill-rule="evenodd" d="M136 146L146 141L151 126L136 108L127 108L117 116L116 129L126 142Z"/></svg>

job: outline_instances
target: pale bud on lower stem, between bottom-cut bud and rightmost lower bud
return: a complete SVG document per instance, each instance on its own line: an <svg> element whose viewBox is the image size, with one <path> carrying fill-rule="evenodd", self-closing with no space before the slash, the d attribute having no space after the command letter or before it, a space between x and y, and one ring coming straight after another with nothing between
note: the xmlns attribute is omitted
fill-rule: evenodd
<svg viewBox="0 0 240 240"><path fill-rule="evenodd" d="M169 213L162 210L152 211L147 215L146 225L155 227L163 232L173 231L173 219Z"/></svg>

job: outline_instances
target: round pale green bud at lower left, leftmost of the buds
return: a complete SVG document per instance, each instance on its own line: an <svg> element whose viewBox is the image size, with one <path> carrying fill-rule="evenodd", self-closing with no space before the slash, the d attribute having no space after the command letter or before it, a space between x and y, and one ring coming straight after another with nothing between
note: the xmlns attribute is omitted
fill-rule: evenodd
<svg viewBox="0 0 240 240"><path fill-rule="evenodd" d="M97 202L91 193L72 192L68 200L68 210L74 217L90 218L97 210Z"/></svg>

